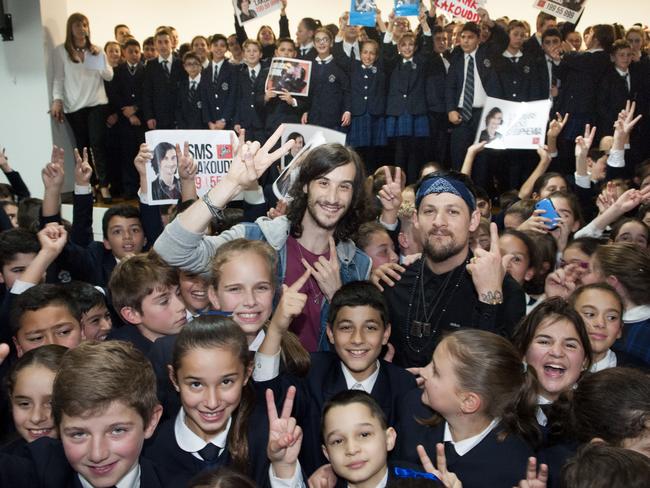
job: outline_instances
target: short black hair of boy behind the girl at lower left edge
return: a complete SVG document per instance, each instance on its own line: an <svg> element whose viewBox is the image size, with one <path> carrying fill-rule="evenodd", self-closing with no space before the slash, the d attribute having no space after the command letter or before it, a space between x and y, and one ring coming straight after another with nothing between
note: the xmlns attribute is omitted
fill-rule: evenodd
<svg viewBox="0 0 650 488"><path fill-rule="evenodd" d="M21 319L25 312L35 312L48 306L59 305L68 309L77 321L81 319L81 312L74 301L68 287L60 284L43 283L29 288L24 293L17 295L9 313L11 332L15 336L21 327ZM77 324L79 325L79 324Z"/></svg>

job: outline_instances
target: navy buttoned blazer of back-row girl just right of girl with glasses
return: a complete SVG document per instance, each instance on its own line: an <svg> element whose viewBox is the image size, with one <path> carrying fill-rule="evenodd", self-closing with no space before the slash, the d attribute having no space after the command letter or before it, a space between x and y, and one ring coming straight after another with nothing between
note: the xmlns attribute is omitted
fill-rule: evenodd
<svg viewBox="0 0 650 488"><path fill-rule="evenodd" d="M365 113L384 115L386 110L386 73L381 65L364 68L361 61L351 63L352 116Z"/></svg>

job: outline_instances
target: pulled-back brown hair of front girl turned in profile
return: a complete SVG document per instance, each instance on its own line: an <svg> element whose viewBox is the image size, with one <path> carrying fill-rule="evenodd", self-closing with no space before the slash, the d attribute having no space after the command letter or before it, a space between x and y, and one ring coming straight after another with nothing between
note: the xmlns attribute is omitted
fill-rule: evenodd
<svg viewBox="0 0 650 488"><path fill-rule="evenodd" d="M539 444L537 381L532 368L524 369L523 355L515 346L504 337L478 329L453 332L437 347L443 343L453 358L458 388L479 395L490 418L501 418L499 440L516 434L533 446ZM434 414L420 422L437 425L441 420Z"/></svg>

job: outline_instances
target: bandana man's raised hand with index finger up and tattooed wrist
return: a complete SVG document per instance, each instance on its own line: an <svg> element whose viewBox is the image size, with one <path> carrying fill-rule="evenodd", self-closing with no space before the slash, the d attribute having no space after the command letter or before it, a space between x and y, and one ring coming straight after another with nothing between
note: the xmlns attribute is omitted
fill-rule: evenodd
<svg viewBox="0 0 650 488"><path fill-rule="evenodd" d="M499 231L497 225L492 222L490 224L490 250L475 248L474 257L467 265L467 271L472 275L472 282L478 293L479 301L492 305L503 302L501 291L503 277L513 257L512 254L501 256Z"/></svg>

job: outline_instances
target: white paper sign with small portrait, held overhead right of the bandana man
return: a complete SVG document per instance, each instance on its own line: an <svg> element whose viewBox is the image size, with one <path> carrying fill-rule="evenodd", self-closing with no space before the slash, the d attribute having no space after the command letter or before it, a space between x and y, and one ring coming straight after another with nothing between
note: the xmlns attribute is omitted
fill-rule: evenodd
<svg viewBox="0 0 650 488"><path fill-rule="evenodd" d="M488 97L476 142L488 141L490 149L537 149L544 144L550 100L511 102Z"/></svg>

